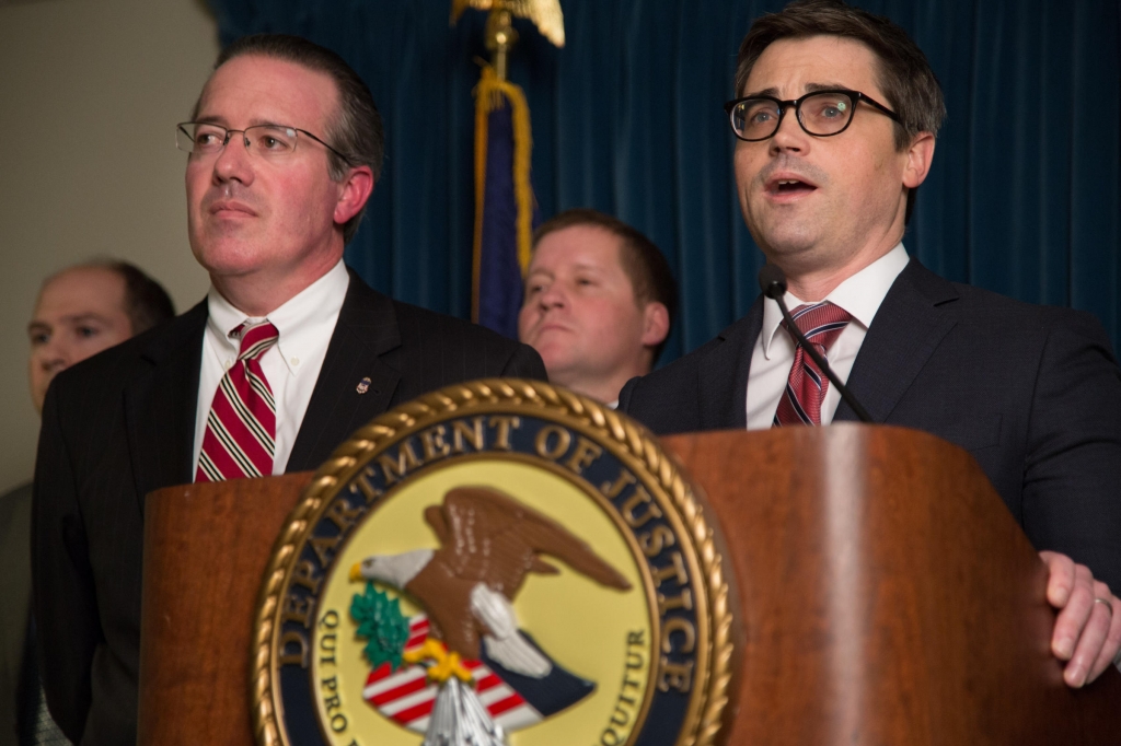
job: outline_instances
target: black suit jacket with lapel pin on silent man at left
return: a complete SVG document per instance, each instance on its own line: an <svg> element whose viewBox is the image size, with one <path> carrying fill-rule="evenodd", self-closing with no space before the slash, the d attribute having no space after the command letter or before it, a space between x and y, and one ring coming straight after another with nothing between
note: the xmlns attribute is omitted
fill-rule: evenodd
<svg viewBox="0 0 1121 746"><path fill-rule="evenodd" d="M74 743L136 742L143 496L193 481L206 317L204 301L64 371L47 392L35 609L47 701ZM400 402L499 375L544 380L545 366L526 345L392 300L352 273L287 470L316 468Z"/></svg>

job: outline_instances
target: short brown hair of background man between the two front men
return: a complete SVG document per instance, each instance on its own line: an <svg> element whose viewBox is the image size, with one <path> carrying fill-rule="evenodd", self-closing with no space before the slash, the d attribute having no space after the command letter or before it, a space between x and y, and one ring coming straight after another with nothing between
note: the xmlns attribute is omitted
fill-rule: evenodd
<svg viewBox="0 0 1121 746"><path fill-rule="evenodd" d="M534 231L534 249L541 239L549 233L555 233L573 225L594 225L615 235L621 241L619 258L630 278L631 287L634 289L634 304L642 308L649 302L659 302L669 313L669 328L674 328L674 319L677 316L677 282L674 273L669 271L669 263L665 255L658 250L646 235L638 229L623 223L617 217L605 215L595 209L576 207L566 209L563 213L550 217L541 223ZM666 333L666 339L669 332ZM654 361L666 346L666 339L655 347Z"/></svg>

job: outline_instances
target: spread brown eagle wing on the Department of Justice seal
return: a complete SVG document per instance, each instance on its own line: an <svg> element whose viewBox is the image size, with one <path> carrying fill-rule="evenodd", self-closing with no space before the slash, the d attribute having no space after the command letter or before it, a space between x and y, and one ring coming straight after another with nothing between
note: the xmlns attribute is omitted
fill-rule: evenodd
<svg viewBox="0 0 1121 746"><path fill-rule="evenodd" d="M439 516L434 514L438 511ZM442 506L426 512L441 537L433 558L452 575L484 582L513 598L528 572L555 572L538 554L549 554L604 586L630 584L584 541L556 521L492 487L455 487Z"/></svg>

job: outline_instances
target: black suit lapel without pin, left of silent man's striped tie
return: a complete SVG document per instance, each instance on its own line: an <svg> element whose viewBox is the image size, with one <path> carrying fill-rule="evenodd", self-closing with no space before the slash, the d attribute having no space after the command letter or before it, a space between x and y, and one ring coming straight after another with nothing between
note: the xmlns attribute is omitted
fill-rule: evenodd
<svg viewBox="0 0 1121 746"><path fill-rule="evenodd" d="M141 352L149 370L124 386L124 419L137 496L189 483L206 301L173 320Z"/></svg>

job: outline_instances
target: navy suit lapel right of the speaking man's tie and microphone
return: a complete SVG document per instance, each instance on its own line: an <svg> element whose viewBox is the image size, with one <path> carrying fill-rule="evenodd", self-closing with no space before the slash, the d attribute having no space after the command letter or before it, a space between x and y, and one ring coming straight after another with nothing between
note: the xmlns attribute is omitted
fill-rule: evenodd
<svg viewBox="0 0 1121 746"><path fill-rule="evenodd" d="M954 286L914 257L883 298L860 347L849 389L872 420L884 422L956 321L938 306L958 297ZM843 400L834 420L855 420Z"/></svg>

